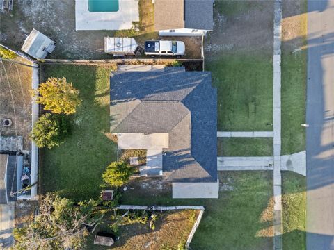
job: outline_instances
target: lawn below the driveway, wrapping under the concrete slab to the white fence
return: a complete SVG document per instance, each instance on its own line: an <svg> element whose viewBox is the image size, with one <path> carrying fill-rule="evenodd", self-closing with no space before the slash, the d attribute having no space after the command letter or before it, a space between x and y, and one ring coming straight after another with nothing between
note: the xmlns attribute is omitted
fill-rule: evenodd
<svg viewBox="0 0 334 250"><path fill-rule="evenodd" d="M203 205L205 213L191 249L271 249L272 172L219 172L218 199L172 199L171 187L161 178L134 179L134 190L122 194L122 204Z"/></svg>

